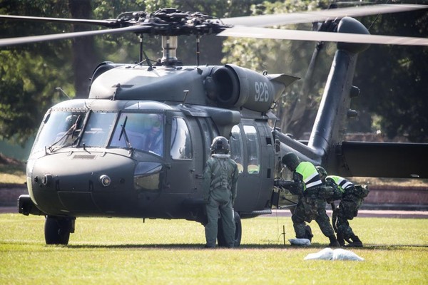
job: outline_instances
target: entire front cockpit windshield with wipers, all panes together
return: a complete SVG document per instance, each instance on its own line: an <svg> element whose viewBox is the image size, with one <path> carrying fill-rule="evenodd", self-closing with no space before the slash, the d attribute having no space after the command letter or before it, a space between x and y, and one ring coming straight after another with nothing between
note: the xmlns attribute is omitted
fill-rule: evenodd
<svg viewBox="0 0 428 285"><path fill-rule="evenodd" d="M116 112L52 111L45 117L32 152L46 149L54 152L62 147L106 147L110 141L108 147L163 156L164 125L165 115L160 113L118 116Z"/></svg>

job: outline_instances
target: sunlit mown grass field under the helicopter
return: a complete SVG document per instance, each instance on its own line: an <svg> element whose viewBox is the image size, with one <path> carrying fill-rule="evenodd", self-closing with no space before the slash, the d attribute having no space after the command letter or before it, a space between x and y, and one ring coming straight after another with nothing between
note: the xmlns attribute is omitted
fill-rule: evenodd
<svg viewBox="0 0 428 285"><path fill-rule="evenodd" d="M0 214L0 284L428 284L428 219L356 218L365 261L303 260L290 217L243 219L238 249L203 249L185 220L78 218L68 246L46 246L44 217ZM284 245L282 230L285 228Z"/></svg>

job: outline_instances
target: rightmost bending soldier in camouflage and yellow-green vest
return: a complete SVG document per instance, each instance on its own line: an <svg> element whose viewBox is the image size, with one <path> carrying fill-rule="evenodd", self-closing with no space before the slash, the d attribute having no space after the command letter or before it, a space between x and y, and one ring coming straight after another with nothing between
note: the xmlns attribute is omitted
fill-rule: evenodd
<svg viewBox="0 0 428 285"><path fill-rule="evenodd" d="M337 241L341 247L345 247L345 240L349 243L348 247L362 247L360 238L354 234L348 220L357 217L358 209L369 193L367 186L354 185L340 176L327 176L327 172L322 167L317 167L317 170L321 180L325 181L325 185L334 188L335 197L332 197L332 201L340 199L339 206L333 209L333 225L337 232Z"/></svg>

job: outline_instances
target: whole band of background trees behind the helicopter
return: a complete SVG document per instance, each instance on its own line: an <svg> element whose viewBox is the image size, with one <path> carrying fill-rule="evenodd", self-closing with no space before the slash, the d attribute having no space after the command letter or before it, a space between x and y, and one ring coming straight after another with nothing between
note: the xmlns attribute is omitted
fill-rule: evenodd
<svg viewBox="0 0 428 285"><path fill-rule="evenodd" d="M133 2L133 3L130 3ZM123 11L156 11L173 6L183 11L203 11L227 17L272 14L307 9L326 9L330 1L204 1L204 0L0 0L0 14L65 18L116 18ZM364 17L374 34L427 37L426 11ZM2 21L0 36L29 36L93 29L91 26ZM279 28L279 27L278 27ZM287 28L293 28L287 26ZM310 29L310 24L295 28ZM160 39L145 36L149 58L161 56ZM272 41L204 36L201 63L235 63L240 66L287 73L305 78L315 43ZM299 138L310 131L330 69L335 44L326 43L310 83L302 95L303 80L287 88L275 113L283 131ZM195 64L195 38L179 39L178 57ZM362 95L353 100L360 118L350 124L351 131L380 130L389 138L407 135L413 142L427 142L428 81L426 47L371 46L360 55L354 84ZM49 106L64 100L56 93L61 87L71 97L85 98L93 68L101 61L134 62L138 59L138 38L134 34L34 43L0 49L0 138L25 142L34 135Z"/></svg>

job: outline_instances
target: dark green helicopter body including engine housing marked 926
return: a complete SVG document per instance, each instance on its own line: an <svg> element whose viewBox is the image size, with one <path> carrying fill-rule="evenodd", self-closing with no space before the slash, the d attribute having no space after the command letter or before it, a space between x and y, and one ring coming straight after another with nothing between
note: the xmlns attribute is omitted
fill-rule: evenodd
<svg viewBox="0 0 428 285"><path fill-rule="evenodd" d="M101 67L88 99L55 105L41 124L27 164L41 213L203 221L203 168L218 135L239 165L235 211L270 211L280 155L267 111L284 83L237 66Z"/></svg>

